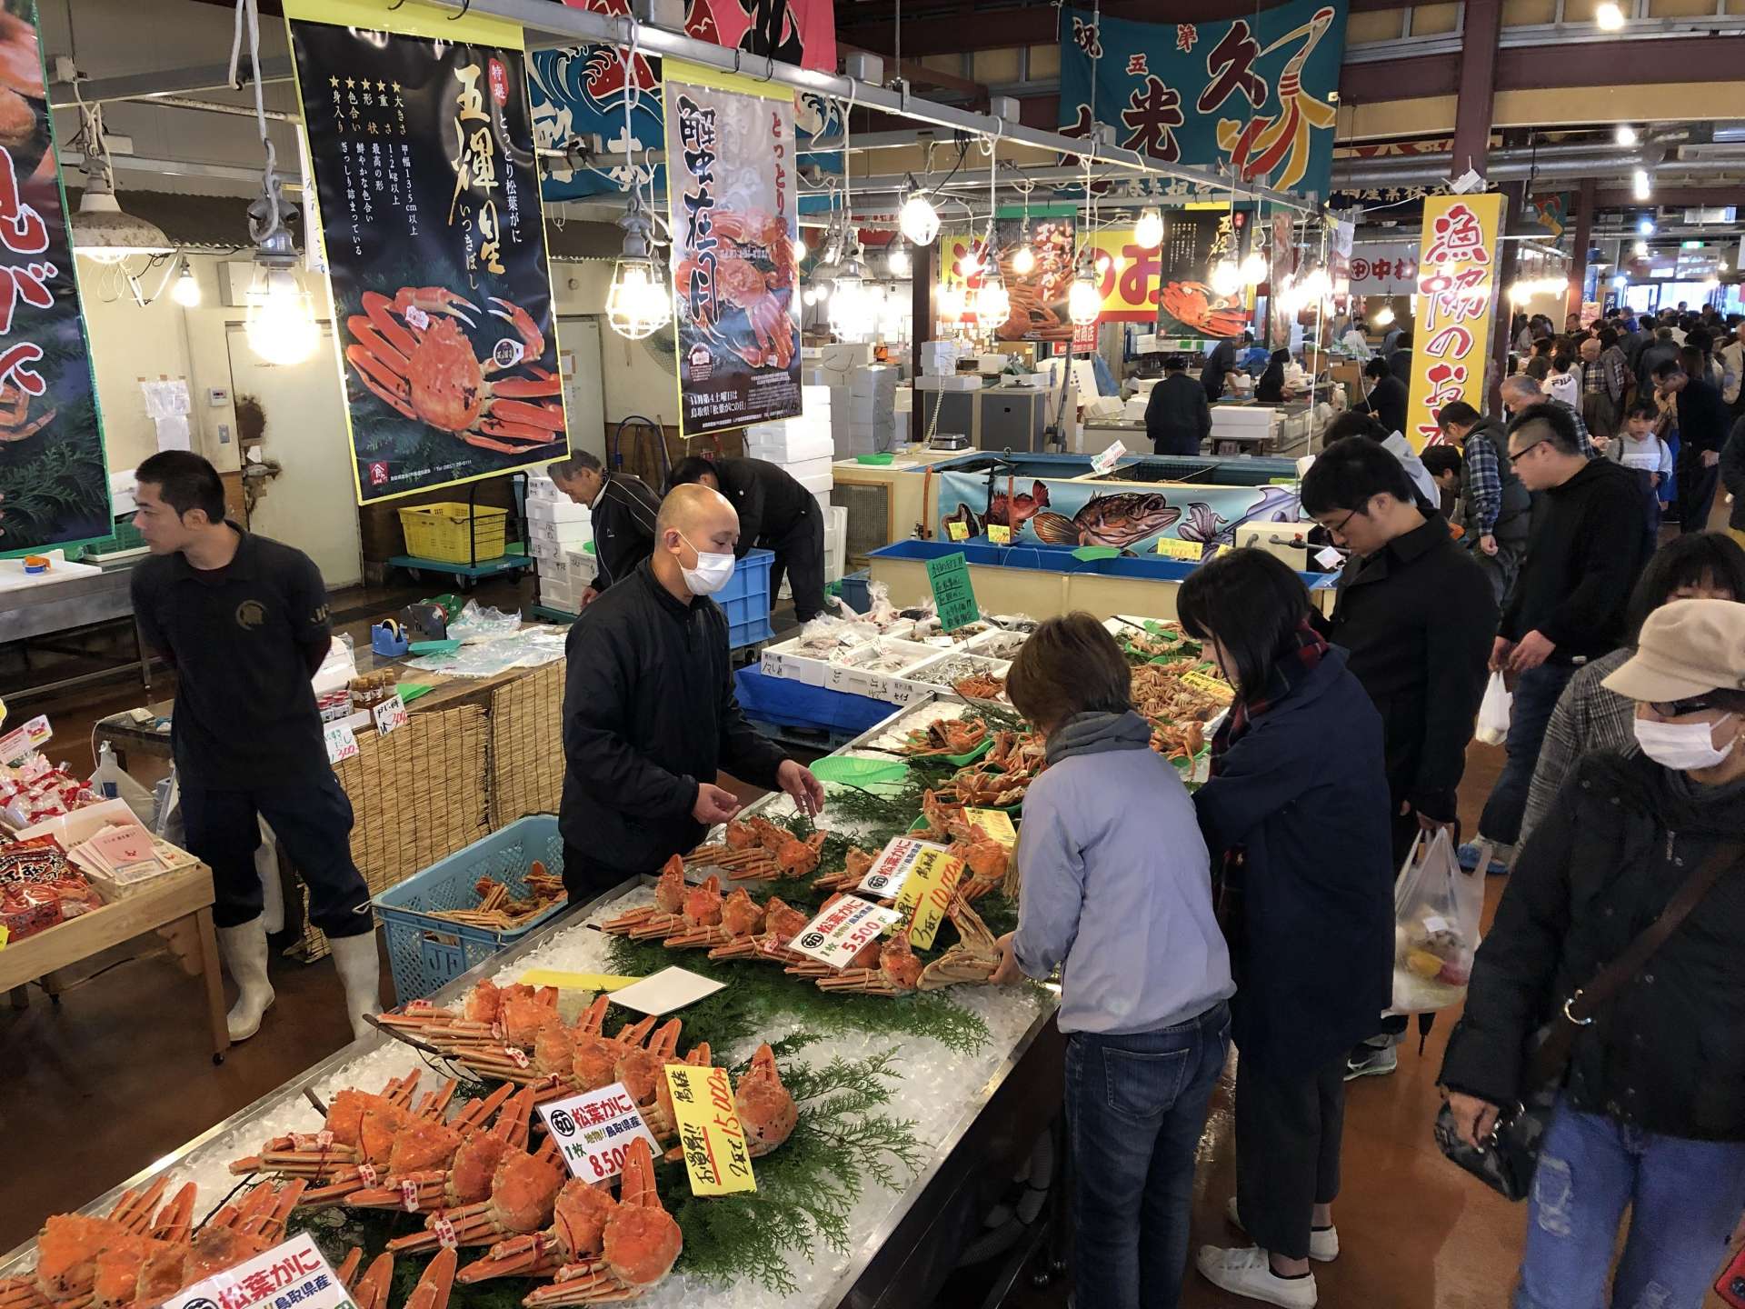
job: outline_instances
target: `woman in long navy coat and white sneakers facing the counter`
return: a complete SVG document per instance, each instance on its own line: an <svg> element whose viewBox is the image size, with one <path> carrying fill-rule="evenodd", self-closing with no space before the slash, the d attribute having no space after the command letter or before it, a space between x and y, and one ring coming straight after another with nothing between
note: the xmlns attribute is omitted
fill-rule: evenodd
<svg viewBox="0 0 1745 1309"><path fill-rule="evenodd" d="M1302 579L1272 555L1227 550L1201 564L1176 613L1235 686L1194 808L1222 871L1237 984L1228 1213L1255 1244L1202 1246L1199 1271L1235 1295L1309 1309L1309 1260L1338 1257L1345 1056L1393 998L1382 719L1344 651L1309 625Z"/></svg>

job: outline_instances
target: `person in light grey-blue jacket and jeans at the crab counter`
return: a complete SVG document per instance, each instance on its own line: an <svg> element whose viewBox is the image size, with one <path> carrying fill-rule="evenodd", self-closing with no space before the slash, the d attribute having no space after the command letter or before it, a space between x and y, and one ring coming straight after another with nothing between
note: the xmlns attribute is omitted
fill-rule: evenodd
<svg viewBox="0 0 1745 1309"><path fill-rule="evenodd" d="M1024 796L1017 932L993 979L1061 965L1078 1304L1171 1309L1235 990L1206 845L1133 712L1127 660L1091 614L1044 621L1005 686L1047 737L1049 766Z"/></svg>

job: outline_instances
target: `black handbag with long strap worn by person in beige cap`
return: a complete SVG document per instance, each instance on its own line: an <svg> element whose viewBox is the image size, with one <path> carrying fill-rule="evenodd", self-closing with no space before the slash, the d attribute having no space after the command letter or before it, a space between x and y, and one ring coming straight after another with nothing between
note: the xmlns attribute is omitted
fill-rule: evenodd
<svg viewBox="0 0 1745 1309"><path fill-rule="evenodd" d="M1659 918L1649 923L1618 958L1600 969L1593 981L1564 1000L1550 1023L1534 1031L1525 1052L1527 1086L1532 1089L1527 1100L1499 1115L1485 1145L1469 1145L1461 1138L1454 1110L1443 1101L1433 1131L1436 1148L1452 1164L1464 1168L1504 1199L1527 1199L1532 1190L1534 1169L1539 1166L1539 1145L1544 1141L1557 1093L1569 1070L1576 1033L1590 1026L1598 1007L1623 991L1654 951L1666 944L1666 939L1679 930L1691 909L1721 880L1721 874L1740 860L1742 853L1745 853L1745 846L1735 841L1717 846L1701 867L1686 878Z"/></svg>

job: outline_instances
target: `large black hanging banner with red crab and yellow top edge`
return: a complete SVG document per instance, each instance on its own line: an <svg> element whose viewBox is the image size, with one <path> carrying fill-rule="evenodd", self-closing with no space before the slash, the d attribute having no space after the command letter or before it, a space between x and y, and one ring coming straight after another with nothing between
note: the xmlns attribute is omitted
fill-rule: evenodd
<svg viewBox="0 0 1745 1309"><path fill-rule="evenodd" d="M565 454L520 26L421 0L284 10L358 503Z"/></svg>

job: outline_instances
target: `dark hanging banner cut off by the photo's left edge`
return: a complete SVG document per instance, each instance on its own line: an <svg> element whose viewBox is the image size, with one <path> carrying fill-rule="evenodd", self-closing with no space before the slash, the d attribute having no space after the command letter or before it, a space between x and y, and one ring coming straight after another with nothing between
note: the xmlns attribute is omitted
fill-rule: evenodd
<svg viewBox="0 0 1745 1309"><path fill-rule="evenodd" d="M103 428L73 279L33 3L0 28L0 553L113 532Z"/></svg>

